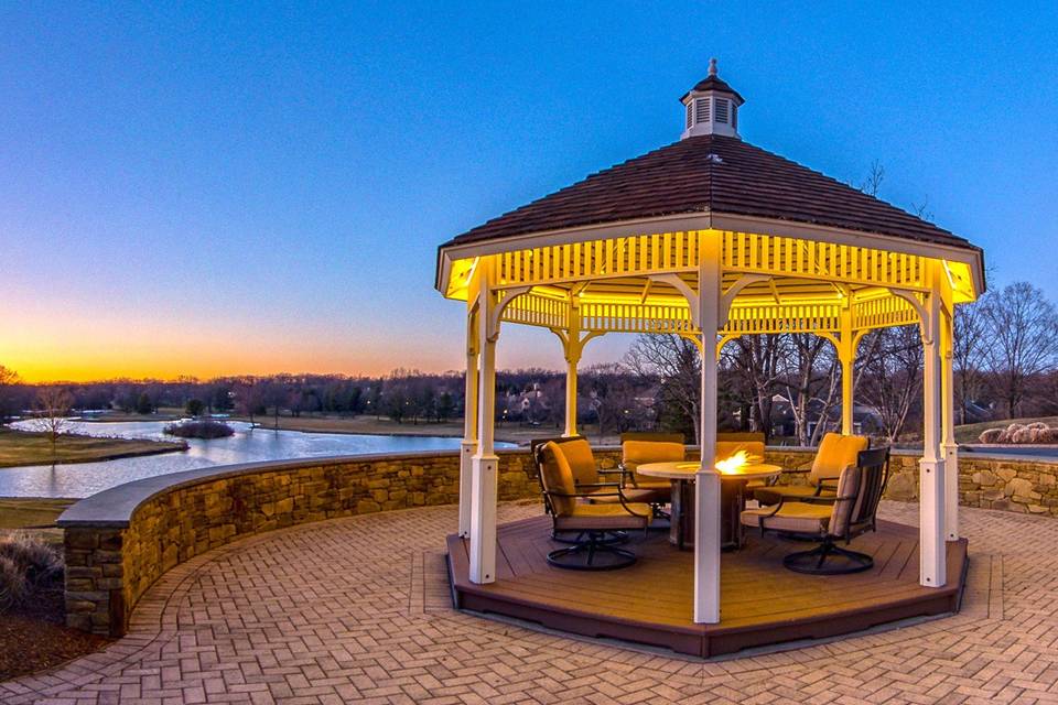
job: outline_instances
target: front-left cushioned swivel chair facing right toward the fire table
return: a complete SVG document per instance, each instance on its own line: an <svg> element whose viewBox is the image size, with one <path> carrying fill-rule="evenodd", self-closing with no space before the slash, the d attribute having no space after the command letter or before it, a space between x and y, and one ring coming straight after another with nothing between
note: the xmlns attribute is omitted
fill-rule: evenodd
<svg viewBox="0 0 1058 705"><path fill-rule="evenodd" d="M540 457L540 484L544 502L551 508L552 535L576 533L573 545L548 554L548 563L575 571L613 571L631 565L636 554L616 545L613 534L650 524L650 506L630 502L619 482L583 484L574 481L573 468L563 446L549 441L537 451ZM579 499L613 498L611 503L589 503Z"/></svg>

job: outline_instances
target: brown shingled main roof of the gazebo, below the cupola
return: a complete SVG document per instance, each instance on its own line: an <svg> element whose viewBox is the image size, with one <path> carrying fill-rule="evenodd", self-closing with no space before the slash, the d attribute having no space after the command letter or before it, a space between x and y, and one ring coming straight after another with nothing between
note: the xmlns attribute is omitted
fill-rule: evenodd
<svg viewBox="0 0 1058 705"><path fill-rule="evenodd" d="M978 250L965 239L737 138L703 134L592 174L443 247L679 214L724 213Z"/></svg>

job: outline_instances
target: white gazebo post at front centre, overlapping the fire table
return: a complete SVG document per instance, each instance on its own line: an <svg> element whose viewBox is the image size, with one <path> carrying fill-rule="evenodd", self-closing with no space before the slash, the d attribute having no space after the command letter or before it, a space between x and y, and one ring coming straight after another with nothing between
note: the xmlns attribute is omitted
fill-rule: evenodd
<svg viewBox="0 0 1058 705"><path fill-rule="evenodd" d="M694 482L694 621L720 621L720 473L716 455L716 332L721 328L720 237L700 232L698 314L702 332L701 467Z"/></svg>

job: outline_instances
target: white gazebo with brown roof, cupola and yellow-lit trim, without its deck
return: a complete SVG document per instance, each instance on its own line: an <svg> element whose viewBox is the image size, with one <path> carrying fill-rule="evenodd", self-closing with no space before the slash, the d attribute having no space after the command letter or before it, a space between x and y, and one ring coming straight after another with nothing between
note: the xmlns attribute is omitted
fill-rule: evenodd
<svg viewBox="0 0 1058 705"><path fill-rule="evenodd" d="M980 248L931 223L739 138L744 104L710 64L680 98L681 139L460 235L439 249L436 288L466 302L466 427L460 525L469 581L496 579L495 355L501 324L555 334L566 361L565 434L576 433L576 366L609 333L676 334L702 357L693 620L721 621L720 349L745 335L812 333L842 366L852 433L853 365L868 330L917 324L925 347L921 586L948 575L959 538L953 435L954 306L984 291Z"/></svg>

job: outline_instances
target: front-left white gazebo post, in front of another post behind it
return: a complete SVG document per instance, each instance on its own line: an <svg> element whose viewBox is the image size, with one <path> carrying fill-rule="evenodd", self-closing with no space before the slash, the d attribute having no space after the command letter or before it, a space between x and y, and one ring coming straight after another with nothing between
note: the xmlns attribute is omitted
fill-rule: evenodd
<svg viewBox="0 0 1058 705"><path fill-rule="evenodd" d="M499 321L490 263L482 260L477 334L481 369L477 393L477 452L471 460L471 582L496 581L496 475L493 447L496 423L496 339Z"/></svg>

